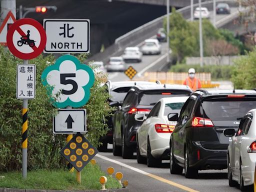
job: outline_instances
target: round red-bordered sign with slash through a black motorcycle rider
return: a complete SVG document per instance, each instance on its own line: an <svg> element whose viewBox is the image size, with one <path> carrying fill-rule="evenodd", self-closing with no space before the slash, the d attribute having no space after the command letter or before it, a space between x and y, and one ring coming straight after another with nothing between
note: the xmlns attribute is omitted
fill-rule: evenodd
<svg viewBox="0 0 256 192"><path fill-rule="evenodd" d="M25 31L21 29L20 27L21 25L25 25L24 27L22 27L23 30L25 28ZM35 45L35 40L30 39L29 37L30 33L28 31L30 31L31 28L35 28L36 30L38 30L37 34L40 35L36 37L37 40L40 39L38 46ZM15 31L17 31L17 33ZM20 35L18 36L18 38L20 37L19 38L20 40L14 41L13 35L17 35L17 34ZM33 34L33 38L35 37L35 35L36 34ZM21 18L15 21L13 24L11 24L11 26L9 27L7 31L6 41L7 41L7 46L13 55L21 59L32 59L38 56L43 51L46 44L46 34L42 25L38 21L32 18ZM14 43L16 44L16 46L14 46ZM31 52L24 51L24 48L21 48L22 46L26 46L25 48L27 50L31 50L32 48L32 51Z"/></svg>

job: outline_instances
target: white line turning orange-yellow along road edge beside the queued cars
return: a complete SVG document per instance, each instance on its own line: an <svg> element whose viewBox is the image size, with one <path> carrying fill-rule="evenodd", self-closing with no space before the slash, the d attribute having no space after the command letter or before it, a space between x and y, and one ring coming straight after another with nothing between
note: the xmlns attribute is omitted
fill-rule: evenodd
<svg viewBox="0 0 256 192"><path fill-rule="evenodd" d="M129 168L129 169L131 169L131 170L133 170L133 171L136 171L136 172L138 172L138 173L144 174L144 175L146 175L146 176L150 176L151 178L154 178L154 179L159 180L159 181L161 181L161 182L165 182L165 183L170 184L170 185L172 185L172 186L175 186L175 187L177 187L177 188L181 188L181 189L183 189L183 190L185 190L185 191L188 191L188 192L199 192L198 190L194 190L194 189L189 188L189 187L187 187L187 186L184 186L184 185L182 185L182 184L179 184L179 183L170 181L170 180L168 180L168 179L162 178L162 177L157 176L157 175L155 175L155 174L148 173L148 172L146 172L146 171L140 170L140 169L138 169L138 168L135 168L135 167L130 166L130 165L128 165L128 164L119 162L119 161L117 161L117 160L108 158L108 157L106 157L106 156L103 156L103 155L100 155L100 154L96 154L96 156L99 157L99 158L102 158L102 159L104 159L104 160L113 162L113 163L115 163L115 164L119 164L119 165L121 165L121 166L123 166L123 167Z"/></svg>

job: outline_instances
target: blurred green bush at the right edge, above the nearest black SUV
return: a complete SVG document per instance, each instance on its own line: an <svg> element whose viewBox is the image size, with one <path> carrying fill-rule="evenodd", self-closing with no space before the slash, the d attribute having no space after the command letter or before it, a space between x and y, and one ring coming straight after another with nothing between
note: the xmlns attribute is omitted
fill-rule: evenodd
<svg viewBox="0 0 256 192"><path fill-rule="evenodd" d="M232 81L235 88L251 89L256 87L256 49L234 61Z"/></svg>

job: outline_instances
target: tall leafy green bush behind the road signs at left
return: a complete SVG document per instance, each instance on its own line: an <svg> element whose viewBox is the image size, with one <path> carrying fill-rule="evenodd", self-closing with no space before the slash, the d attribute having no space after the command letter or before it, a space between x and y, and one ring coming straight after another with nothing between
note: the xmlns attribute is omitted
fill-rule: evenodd
<svg viewBox="0 0 256 192"><path fill-rule="evenodd" d="M82 57L80 57L82 58ZM52 133L52 115L56 109L50 104L46 88L41 84L41 73L53 64L52 55L38 56L29 63L36 65L36 96L28 101L28 169L59 168L65 160L59 151L65 145L66 135ZM22 60L0 46L0 171L21 168L22 100L16 99L16 64ZM107 129L102 121L111 111L106 103L107 92L95 79L87 109L87 138L97 146L99 135ZM96 127L96 128L94 128Z"/></svg>

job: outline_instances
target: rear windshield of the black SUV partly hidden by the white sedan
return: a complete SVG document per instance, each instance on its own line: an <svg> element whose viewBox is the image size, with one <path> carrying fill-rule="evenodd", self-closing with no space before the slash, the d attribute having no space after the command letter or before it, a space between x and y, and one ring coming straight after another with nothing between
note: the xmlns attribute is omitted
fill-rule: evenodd
<svg viewBox="0 0 256 192"><path fill-rule="evenodd" d="M141 105L154 105L159 99L173 96L189 96L191 93L185 90L169 91L145 91L140 94L138 103Z"/></svg>

